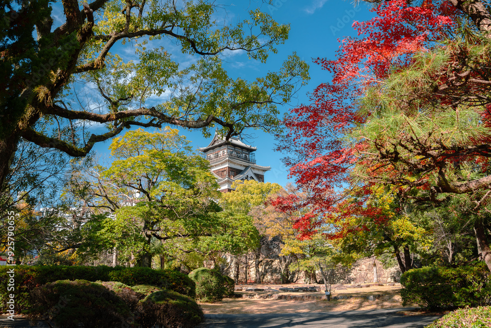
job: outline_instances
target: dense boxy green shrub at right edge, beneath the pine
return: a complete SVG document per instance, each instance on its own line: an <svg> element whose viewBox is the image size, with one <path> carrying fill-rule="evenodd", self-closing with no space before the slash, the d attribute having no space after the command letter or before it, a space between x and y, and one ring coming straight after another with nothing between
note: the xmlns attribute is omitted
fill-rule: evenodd
<svg viewBox="0 0 491 328"><path fill-rule="evenodd" d="M482 262L459 268L425 267L401 276L403 304L429 310L487 305L491 302L490 272Z"/></svg>

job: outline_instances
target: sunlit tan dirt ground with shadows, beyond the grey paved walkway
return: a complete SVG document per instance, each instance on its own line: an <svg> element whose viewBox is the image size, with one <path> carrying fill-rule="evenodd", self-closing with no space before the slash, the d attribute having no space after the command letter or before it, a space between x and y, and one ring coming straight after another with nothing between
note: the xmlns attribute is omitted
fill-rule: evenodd
<svg viewBox="0 0 491 328"><path fill-rule="evenodd" d="M286 285L284 285L286 287ZM257 286L262 288L261 286ZM240 314L240 313L305 313L328 311L375 310L400 308L401 286L375 286L367 288L339 289L332 297L346 296L348 299L334 300L286 300L260 299L261 295L291 295L291 296L322 296L324 291L317 293L280 293L275 286L269 286L264 292L237 292L237 294L252 294L255 298L224 298L219 303L199 303L205 314ZM291 287L291 286L288 286ZM277 292L275 292L276 290ZM368 300L368 296L382 295L379 299ZM411 306L410 304L407 306Z"/></svg>

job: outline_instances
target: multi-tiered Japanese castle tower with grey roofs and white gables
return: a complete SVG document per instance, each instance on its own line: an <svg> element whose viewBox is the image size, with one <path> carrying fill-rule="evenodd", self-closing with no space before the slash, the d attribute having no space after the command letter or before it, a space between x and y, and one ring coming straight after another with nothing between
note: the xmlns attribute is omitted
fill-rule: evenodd
<svg viewBox="0 0 491 328"><path fill-rule="evenodd" d="M225 138L215 133L213 140L206 147L200 148L210 161L213 174L217 177L221 192L234 190L235 180L256 180L264 182L264 173L270 166L256 165L254 151L257 148L246 145L238 137Z"/></svg>

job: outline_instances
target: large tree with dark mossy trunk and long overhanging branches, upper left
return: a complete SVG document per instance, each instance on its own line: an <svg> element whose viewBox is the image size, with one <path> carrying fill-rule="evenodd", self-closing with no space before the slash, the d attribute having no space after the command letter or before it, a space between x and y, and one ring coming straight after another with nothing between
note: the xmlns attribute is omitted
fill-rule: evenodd
<svg viewBox="0 0 491 328"><path fill-rule="evenodd" d="M62 6L61 18L53 6ZM293 54L278 72L246 81L227 75L220 54L238 50L264 62L287 39L289 26L259 9L229 25L217 19L226 16L221 10L203 0L3 1L0 185L20 138L78 157L131 126L174 124L208 134L218 125L230 137L277 125L276 105L308 79L307 65ZM180 67L165 40L199 59ZM130 44L136 61L115 52ZM149 104L164 92L168 100ZM98 95L82 101L84 93ZM94 133L94 123L108 131Z"/></svg>

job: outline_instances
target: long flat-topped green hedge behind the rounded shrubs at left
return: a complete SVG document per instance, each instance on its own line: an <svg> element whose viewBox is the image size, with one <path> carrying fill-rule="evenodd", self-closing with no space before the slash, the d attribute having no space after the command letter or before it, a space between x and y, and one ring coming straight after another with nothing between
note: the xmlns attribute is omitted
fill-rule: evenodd
<svg viewBox="0 0 491 328"><path fill-rule="evenodd" d="M1 266L0 312L5 312L8 294L12 294L12 291L7 291L8 279L3 279L8 277L7 271L11 268L15 271L16 311L24 311L32 307L29 301L30 291L57 280L119 281L129 286L151 284L195 297L194 282L186 274L172 270L107 266Z"/></svg>

